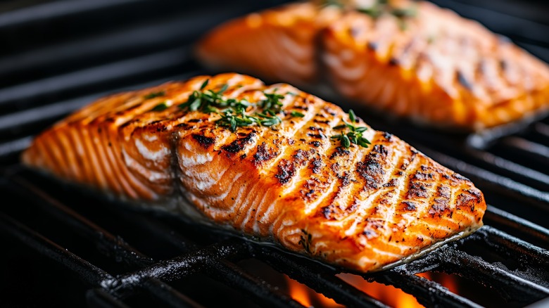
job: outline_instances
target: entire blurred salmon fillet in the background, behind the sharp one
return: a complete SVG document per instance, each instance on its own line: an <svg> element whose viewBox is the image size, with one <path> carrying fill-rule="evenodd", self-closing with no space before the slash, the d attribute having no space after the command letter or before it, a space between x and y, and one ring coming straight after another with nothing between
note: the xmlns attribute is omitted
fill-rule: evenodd
<svg viewBox="0 0 549 308"><path fill-rule="evenodd" d="M329 79L356 104L436 127L479 131L549 110L548 65L479 23L427 1L318 2L229 21L196 54L277 81Z"/></svg>

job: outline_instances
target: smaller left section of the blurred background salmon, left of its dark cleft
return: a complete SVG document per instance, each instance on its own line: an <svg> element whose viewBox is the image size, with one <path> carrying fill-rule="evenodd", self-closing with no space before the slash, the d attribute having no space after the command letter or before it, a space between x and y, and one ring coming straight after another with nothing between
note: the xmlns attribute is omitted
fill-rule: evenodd
<svg viewBox="0 0 549 308"><path fill-rule="evenodd" d="M315 82L318 34L341 16L333 6L287 4L231 20L204 37L196 48L212 68L258 75L273 82Z"/></svg>

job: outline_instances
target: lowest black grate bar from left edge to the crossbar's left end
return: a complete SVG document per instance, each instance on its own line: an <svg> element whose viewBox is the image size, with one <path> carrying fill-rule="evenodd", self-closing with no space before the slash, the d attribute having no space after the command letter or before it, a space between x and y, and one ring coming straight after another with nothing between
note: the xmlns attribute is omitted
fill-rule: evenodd
<svg viewBox="0 0 549 308"><path fill-rule="evenodd" d="M68 267L68 269L80 276L82 281L86 281L91 285L98 285L98 281L113 278L102 269L99 269L99 267L65 250L48 238L44 238L44 236L32 231L15 219L6 216L4 213L0 213L0 229L17 238L21 243L25 243L27 247L37 250L42 255L65 265L65 267Z"/></svg>

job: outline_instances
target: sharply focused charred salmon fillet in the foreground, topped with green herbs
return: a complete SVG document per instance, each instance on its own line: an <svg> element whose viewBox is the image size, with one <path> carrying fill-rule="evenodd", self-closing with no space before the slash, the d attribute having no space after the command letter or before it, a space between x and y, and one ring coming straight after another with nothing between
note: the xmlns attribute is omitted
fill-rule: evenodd
<svg viewBox="0 0 549 308"><path fill-rule="evenodd" d="M210 109L197 105L202 94L215 94ZM260 122L232 122L220 102ZM101 98L37 136L22 159L362 272L471 233L486 210L471 181L398 137L294 86L232 73Z"/></svg>

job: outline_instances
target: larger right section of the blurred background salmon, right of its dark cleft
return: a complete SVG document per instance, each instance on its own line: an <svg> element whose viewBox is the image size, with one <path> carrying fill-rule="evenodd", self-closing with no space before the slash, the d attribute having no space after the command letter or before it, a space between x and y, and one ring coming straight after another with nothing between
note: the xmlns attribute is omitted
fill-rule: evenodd
<svg viewBox="0 0 549 308"><path fill-rule="evenodd" d="M467 130L548 109L545 63L452 11L399 2L415 6L417 15L350 11L327 27L324 63L343 96Z"/></svg>

